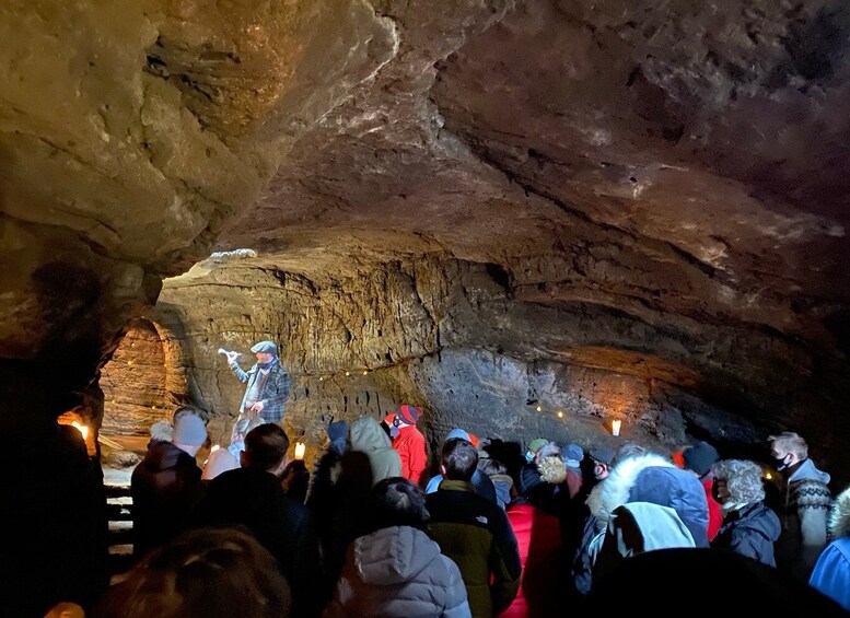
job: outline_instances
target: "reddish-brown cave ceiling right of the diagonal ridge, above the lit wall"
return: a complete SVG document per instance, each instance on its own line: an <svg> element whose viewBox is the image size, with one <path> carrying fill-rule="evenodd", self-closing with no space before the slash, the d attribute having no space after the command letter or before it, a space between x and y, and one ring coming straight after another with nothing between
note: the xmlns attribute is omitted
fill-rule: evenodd
<svg viewBox="0 0 850 618"><path fill-rule="evenodd" d="M685 385L688 364L762 389L841 365L843 7L453 4L465 18L381 8L398 54L219 249L319 281L423 254L498 265L511 303L650 325L580 349L528 333L535 353ZM656 343L665 327L686 353Z"/></svg>

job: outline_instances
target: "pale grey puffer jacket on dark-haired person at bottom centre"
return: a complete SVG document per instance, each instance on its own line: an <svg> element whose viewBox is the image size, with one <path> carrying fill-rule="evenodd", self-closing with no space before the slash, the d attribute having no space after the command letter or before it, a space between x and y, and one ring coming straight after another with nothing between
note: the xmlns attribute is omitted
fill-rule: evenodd
<svg viewBox="0 0 850 618"><path fill-rule="evenodd" d="M411 526L382 528L349 546L325 618L471 616L457 565Z"/></svg>

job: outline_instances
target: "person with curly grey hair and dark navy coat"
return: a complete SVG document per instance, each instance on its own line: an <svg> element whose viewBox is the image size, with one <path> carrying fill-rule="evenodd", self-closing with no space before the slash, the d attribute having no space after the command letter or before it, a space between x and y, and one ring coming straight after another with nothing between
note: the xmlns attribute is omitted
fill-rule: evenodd
<svg viewBox="0 0 850 618"><path fill-rule="evenodd" d="M721 504L723 524L711 547L776 567L779 517L765 504L761 468L754 462L724 459L714 464L713 473L713 493Z"/></svg>

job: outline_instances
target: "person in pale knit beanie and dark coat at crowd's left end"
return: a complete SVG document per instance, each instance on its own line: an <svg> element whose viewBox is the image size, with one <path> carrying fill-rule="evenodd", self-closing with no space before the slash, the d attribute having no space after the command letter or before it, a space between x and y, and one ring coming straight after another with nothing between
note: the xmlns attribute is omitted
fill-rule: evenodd
<svg viewBox="0 0 850 618"><path fill-rule="evenodd" d="M130 477L133 556L138 559L183 532L201 497L201 470L195 460L207 441L200 417L174 422L171 442L155 442Z"/></svg>

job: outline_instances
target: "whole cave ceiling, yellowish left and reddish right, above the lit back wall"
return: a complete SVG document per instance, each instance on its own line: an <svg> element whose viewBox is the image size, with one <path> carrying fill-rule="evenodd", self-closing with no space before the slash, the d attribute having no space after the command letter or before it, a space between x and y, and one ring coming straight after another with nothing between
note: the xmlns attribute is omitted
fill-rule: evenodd
<svg viewBox="0 0 850 618"><path fill-rule="evenodd" d="M161 278L321 288L419 261L467 301L486 280L499 308L471 322L516 329L455 304L423 352L764 396L846 381L843 2L0 12L7 359L110 341Z"/></svg>

